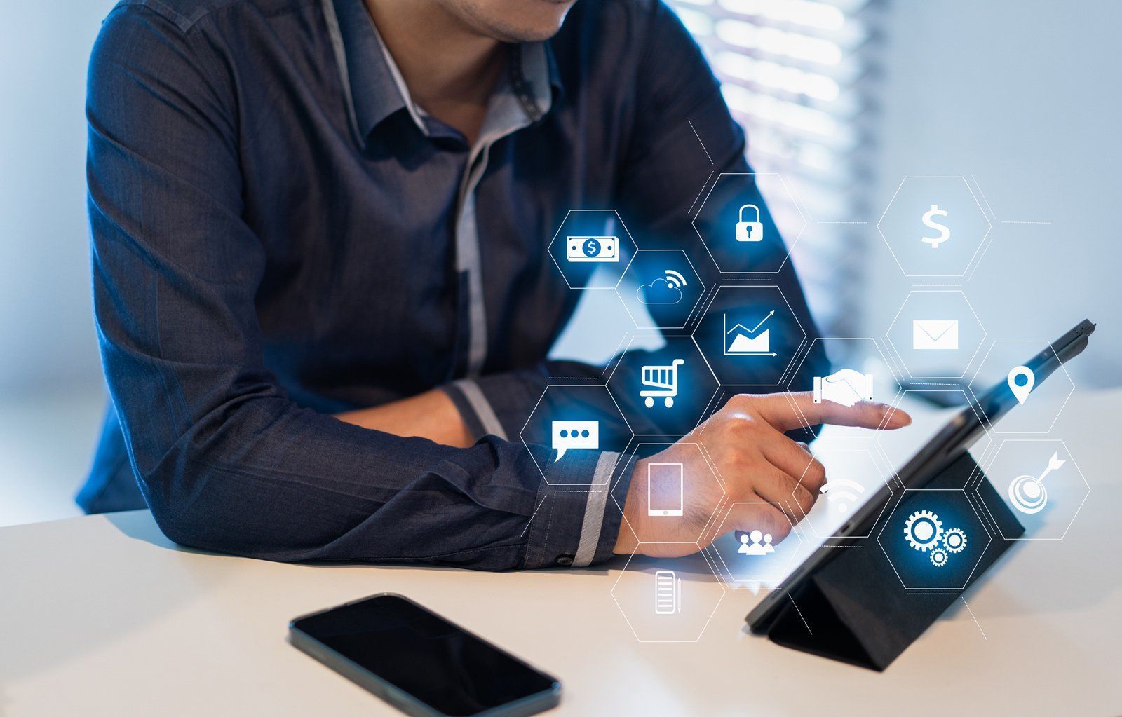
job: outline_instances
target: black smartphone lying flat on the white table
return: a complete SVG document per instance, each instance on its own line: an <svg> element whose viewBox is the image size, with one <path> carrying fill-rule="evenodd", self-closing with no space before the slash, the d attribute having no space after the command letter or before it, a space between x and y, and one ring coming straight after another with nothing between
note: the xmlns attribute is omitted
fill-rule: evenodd
<svg viewBox="0 0 1122 717"><path fill-rule="evenodd" d="M288 623L292 644L419 717L521 717L561 701L557 678L402 595Z"/></svg>

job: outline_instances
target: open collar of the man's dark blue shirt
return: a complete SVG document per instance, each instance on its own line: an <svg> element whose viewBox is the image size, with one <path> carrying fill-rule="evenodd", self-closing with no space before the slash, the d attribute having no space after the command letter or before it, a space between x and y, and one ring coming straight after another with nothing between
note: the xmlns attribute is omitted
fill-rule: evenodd
<svg viewBox="0 0 1122 717"><path fill-rule="evenodd" d="M322 2L351 121L362 143L383 120L403 109L422 132L430 135L434 120L413 102L364 1ZM500 92L512 93L531 122L550 111L560 96L561 83L548 43L511 46L507 75L496 88L496 93Z"/></svg>

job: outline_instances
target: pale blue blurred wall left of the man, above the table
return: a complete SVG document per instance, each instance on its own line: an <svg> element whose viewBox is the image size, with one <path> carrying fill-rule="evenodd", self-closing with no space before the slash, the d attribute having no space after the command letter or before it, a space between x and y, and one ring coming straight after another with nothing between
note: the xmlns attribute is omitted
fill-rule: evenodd
<svg viewBox="0 0 1122 717"><path fill-rule="evenodd" d="M68 517L105 398L85 219L85 66L112 0L2 3L0 525Z"/></svg>

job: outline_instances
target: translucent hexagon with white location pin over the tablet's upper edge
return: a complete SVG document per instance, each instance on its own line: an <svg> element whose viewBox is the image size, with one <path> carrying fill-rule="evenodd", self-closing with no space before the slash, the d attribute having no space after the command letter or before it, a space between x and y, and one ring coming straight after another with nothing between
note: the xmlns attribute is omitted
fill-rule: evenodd
<svg viewBox="0 0 1122 717"><path fill-rule="evenodd" d="M971 394L975 399L981 399L993 386L997 386L999 390L1011 389L1009 382L1017 378L1013 371L1022 368L1024 362L1039 352L1051 353L1059 367L1048 376L1047 380L1037 383L1033 376L1028 393L1022 394L1024 399L1018 401L1018 405L1000 420L995 420L996 416L985 415L990 430L994 433L1048 433L1075 393L1075 383L1049 341L1000 339L990 346L985 358L974 371L969 384ZM1028 373L1031 374L1031 370ZM1023 378L1018 379L1018 386L1021 380Z"/></svg>

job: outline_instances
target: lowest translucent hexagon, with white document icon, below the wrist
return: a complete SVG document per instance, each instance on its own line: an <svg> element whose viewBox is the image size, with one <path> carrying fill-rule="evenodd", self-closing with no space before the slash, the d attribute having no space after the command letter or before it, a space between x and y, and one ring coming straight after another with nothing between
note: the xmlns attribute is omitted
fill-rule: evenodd
<svg viewBox="0 0 1122 717"><path fill-rule="evenodd" d="M700 552L682 558L638 553L657 552L659 544L636 548L611 586L611 599L640 642L697 642L725 597L725 586Z"/></svg>

